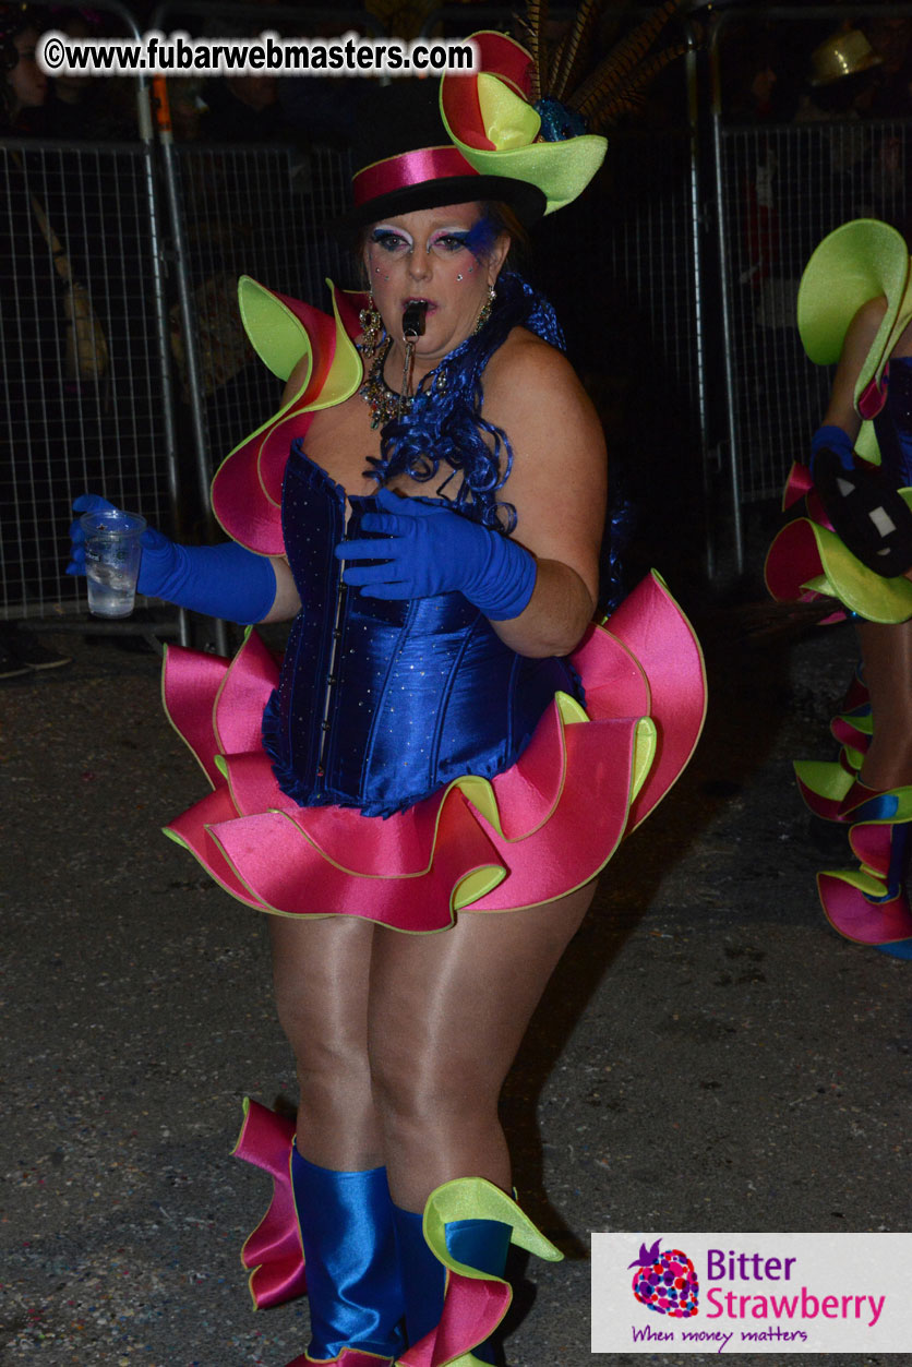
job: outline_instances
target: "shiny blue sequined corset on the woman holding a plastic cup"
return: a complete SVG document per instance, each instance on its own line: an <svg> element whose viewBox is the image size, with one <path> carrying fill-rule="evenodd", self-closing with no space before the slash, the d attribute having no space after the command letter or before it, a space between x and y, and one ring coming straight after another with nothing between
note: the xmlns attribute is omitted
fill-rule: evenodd
<svg viewBox="0 0 912 1367"><path fill-rule="evenodd" d="M342 584L332 551L368 536L373 499L351 496L294 442L282 492L286 554L301 596L263 742L283 793L388 816L461 774L509 768L558 689L562 659L511 651L461 593L386 601Z"/></svg>

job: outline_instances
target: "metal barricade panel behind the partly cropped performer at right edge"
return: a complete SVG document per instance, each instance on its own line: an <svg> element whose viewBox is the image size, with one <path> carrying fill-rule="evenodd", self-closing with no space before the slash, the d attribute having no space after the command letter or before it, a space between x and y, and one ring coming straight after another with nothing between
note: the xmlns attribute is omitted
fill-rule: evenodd
<svg viewBox="0 0 912 1367"><path fill-rule="evenodd" d="M905 176L886 174L885 165L908 165L911 137L909 123L875 120L721 131L730 428L740 503L781 492L827 405L831 370L808 361L796 327L804 267L827 232L849 219L905 220Z"/></svg>

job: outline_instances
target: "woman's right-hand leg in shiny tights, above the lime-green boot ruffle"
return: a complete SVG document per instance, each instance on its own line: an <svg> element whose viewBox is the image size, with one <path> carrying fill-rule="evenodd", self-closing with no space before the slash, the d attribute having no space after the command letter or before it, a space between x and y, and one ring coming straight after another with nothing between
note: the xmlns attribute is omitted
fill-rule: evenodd
<svg viewBox="0 0 912 1367"><path fill-rule="evenodd" d="M522 912L466 912L435 935L377 930L369 1046L390 1191L420 1211L435 1187L510 1191L498 1100L529 1018L595 883Z"/></svg>

